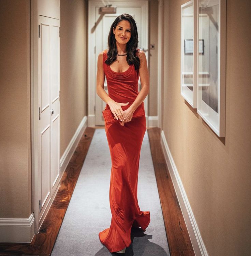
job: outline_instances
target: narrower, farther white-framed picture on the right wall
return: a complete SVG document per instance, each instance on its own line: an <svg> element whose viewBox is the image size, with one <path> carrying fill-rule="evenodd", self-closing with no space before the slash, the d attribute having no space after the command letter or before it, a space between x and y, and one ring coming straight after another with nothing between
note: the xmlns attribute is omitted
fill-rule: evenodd
<svg viewBox="0 0 251 256"><path fill-rule="evenodd" d="M197 52L197 44L194 44L197 41L197 33L194 33L197 25L196 15L194 16L196 7L194 0L181 5L180 90L181 96L192 108L196 108L197 104L197 66L194 54Z"/></svg>

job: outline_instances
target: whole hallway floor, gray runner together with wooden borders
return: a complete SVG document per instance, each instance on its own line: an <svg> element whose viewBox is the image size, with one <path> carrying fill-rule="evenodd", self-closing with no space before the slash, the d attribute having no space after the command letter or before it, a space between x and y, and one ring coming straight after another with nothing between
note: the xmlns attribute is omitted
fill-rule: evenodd
<svg viewBox="0 0 251 256"><path fill-rule="evenodd" d="M174 256L193 256L159 132L158 128L147 129L139 168L139 204L151 211L151 225L146 231L132 229L132 245L125 255L166 256L171 251ZM110 221L107 201L110 160L105 148L104 129L86 128L62 175L61 186L40 232L31 243L0 243L0 255L113 255L97 236ZM94 160L102 157L102 166L95 170L95 164L98 166L100 162ZM102 179L97 179L98 174Z"/></svg>

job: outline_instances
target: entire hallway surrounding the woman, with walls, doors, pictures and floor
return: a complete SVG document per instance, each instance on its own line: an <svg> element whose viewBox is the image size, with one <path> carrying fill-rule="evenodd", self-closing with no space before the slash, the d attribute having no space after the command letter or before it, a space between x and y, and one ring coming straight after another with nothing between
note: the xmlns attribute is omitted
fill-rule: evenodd
<svg viewBox="0 0 251 256"><path fill-rule="evenodd" d="M138 200L151 223L126 255L250 256L250 0L0 1L0 255L110 255L95 86L120 12L150 78Z"/></svg>

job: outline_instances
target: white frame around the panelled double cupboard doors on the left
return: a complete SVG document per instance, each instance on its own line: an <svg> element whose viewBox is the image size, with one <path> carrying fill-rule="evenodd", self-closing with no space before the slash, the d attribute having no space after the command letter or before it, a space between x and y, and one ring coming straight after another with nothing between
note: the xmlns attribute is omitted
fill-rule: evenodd
<svg viewBox="0 0 251 256"><path fill-rule="evenodd" d="M38 165L39 165L39 12L38 1L32 0L30 6L30 81L31 81L31 173L32 173L32 212L34 214L34 232L39 233L39 228L48 213L56 194L60 187L55 190L54 195L51 195L49 203L46 205L41 219L39 219L39 193L38 193ZM60 112L59 112L60 113ZM60 126L59 126L60 131ZM60 145L59 132L59 145ZM60 162L60 159L59 159ZM59 165L60 168L60 165ZM61 168L60 168L61 179Z"/></svg>

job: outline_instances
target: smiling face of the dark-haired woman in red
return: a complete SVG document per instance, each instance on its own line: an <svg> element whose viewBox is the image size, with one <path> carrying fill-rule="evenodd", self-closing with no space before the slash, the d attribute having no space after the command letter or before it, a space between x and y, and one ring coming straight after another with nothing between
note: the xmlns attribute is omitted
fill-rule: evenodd
<svg viewBox="0 0 251 256"><path fill-rule="evenodd" d="M126 44L129 42L131 38L131 24L128 20L121 20L116 26L113 28L113 33L115 35L115 39L120 44Z"/></svg>

